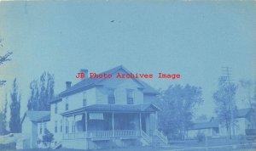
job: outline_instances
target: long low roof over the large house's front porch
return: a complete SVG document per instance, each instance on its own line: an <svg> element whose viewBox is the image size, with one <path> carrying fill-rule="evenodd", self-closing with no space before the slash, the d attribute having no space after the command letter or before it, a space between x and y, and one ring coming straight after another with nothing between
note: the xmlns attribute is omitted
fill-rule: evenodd
<svg viewBox="0 0 256 151"><path fill-rule="evenodd" d="M137 105L128 104L94 104L90 106L85 106L79 109L68 110L61 113L61 115L71 115L73 113L79 113L82 111L90 112L154 112L160 110L153 103L144 103Z"/></svg>

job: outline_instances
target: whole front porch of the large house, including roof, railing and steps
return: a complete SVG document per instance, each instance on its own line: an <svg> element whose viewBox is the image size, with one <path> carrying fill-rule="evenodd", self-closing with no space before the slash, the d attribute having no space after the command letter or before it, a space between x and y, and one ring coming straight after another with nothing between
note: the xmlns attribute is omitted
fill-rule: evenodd
<svg viewBox="0 0 256 151"><path fill-rule="evenodd" d="M61 114L65 121L62 138L66 146L78 143L78 146L85 144L85 148L100 148L103 144L149 145L155 140L167 143L167 138L157 131L158 110L152 104L106 104L68 111Z"/></svg>

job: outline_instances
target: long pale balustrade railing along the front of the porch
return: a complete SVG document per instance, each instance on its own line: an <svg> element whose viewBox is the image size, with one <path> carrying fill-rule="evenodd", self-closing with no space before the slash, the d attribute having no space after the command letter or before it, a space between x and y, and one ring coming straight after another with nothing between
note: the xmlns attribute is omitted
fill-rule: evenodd
<svg viewBox="0 0 256 151"><path fill-rule="evenodd" d="M139 135L140 135L140 131L137 131L137 130L79 131L75 133L63 134L63 139L133 137L133 136L139 136Z"/></svg>

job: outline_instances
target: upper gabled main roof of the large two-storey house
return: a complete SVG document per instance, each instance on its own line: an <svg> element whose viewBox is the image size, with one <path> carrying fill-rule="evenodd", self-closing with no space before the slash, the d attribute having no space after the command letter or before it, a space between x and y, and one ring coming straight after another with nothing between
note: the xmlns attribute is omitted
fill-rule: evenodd
<svg viewBox="0 0 256 151"><path fill-rule="evenodd" d="M106 73L106 74L113 74L116 73L118 70L124 70L126 73L131 73L131 71L125 69L123 65L119 65L111 70L106 70L100 74ZM97 85L100 85L100 82L105 80L106 78L84 78L84 80L79 81L77 84L73 85L72 87L69 87L68 89L61 92L58 97L52 99L50 103L56 102L61 99L61 97L68 96L70 94L84 91L87 89L90 89L92 87L96 87ZM144 93L152 93L152 94L158 94L156 90L154 90L153 87L150 87L147 83L144 81L141 81L138 78L132 78L132 80L137 81L139 85L143 88Z"/></svg>

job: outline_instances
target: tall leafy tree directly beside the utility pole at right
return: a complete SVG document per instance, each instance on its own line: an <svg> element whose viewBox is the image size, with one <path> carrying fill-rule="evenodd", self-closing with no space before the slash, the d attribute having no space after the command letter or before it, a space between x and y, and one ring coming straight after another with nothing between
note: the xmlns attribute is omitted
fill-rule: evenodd
<svg viewBox="0 0 256 151"><path fill-rule="evenodd" d="M231 128L235 126L234 117L236 115L236 95L237 86L235 83L228 81L227 77L220 77L218 80L218 90L214 92L213 98L216 104L215 112L218 115L218 120L224 121L226 131L231 138ZM232 120L233 116L233 120Z"/></svg>

